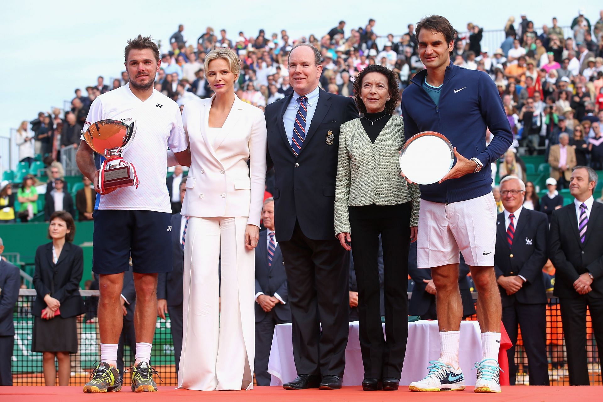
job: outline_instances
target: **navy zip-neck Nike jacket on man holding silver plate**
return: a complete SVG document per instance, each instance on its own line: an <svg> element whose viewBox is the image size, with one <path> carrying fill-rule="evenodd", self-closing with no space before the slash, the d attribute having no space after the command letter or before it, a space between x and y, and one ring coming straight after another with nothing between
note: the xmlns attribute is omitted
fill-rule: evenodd
<svg viewBox="0 0 603 402"><path fill-rule="evenodd" d="M484 164L481 171L420 186L421 198L435 203L456 203L491 192L490 164L511 146L513 134L494 81L485 72L468 70L450 63L444 74L440 102L423 89L426 70L412 78L402 93L405 137L421 131L436 131L450 140L456 151L467 159ZM486 128L493 134L486 147ZM429 163L426 161L426 163ZM456 161L455 161L456 163Z"/></svg>

